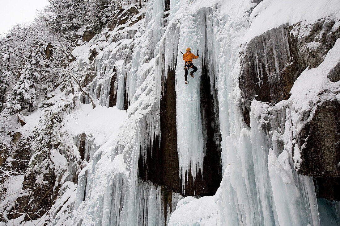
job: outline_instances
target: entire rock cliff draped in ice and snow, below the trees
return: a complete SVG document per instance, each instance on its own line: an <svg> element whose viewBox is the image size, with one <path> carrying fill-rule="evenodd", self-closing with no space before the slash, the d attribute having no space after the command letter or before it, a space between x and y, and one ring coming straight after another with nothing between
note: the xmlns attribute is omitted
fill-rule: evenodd
<svg viewBox="0 0 340 226"><path fill-rule="evenodd" d="M65 113L70 146L55 163L14 135L0 166L20 171L22 192L0 220L317 226L331 222L324 210L339 223L340 204L318 209L316 197L340 201L339 91L300 99L296 86L328 70L340 22L283 23L240 46L261 2L150 0L115 11L100 34L80 29L73 59L93 63L83 80L97 107L83 95ZM194 45L199 71L184 86L179 50ZM328 71L337 84L340 63Z"/></svg>

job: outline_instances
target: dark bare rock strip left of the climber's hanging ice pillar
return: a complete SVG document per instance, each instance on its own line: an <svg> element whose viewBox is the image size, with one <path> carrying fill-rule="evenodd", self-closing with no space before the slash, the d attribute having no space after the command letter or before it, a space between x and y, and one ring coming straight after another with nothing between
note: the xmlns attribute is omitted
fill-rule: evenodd
<svg viewBox="0 0 340 226"><path fill-rule="evenodd" d="M166 90L160 100L160 131L161 137L156 137L149 147L145 163L141 156L139 158L139 174L144 181L152 181L180 192L174 69L168 73Z"/></svg>

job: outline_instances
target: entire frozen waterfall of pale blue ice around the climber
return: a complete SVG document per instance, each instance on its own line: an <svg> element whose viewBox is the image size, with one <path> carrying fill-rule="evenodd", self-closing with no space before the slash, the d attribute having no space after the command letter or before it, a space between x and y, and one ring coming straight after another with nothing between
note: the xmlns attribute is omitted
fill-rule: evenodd
<svg viewBox="0 0 340 226"><path fill-rule="evenodd" d="M243 121L239 53L249 41L245 34L256 1L171 0L164 12L166 2L145 2L138 22L107 29L90 42L98 53L91 94L107 107L109 95L116 95L115 105L129 108L117 137L101 147L86 143L88 163L78 176L74 225L320 225L322 201L312 178L294 170L288 103L253 100L251 128ZM187 47L194 54L199 49L200 56L193 60L199 70L186 85L179 51ZM139 158L146 164L148 147L162 137L160 99L170 69L175 70L170 79L175 80L182 192L191 186L189 176L193 182L202 177L211 151L202 126L201 87L218 91L212 99L218 103L223 178L213 196L184 198L181 191L139 177ZM210 83L201 84L203 74ZM268 117L273 110L277 118ZM331 208L339 210L339 204Z"/></svg>

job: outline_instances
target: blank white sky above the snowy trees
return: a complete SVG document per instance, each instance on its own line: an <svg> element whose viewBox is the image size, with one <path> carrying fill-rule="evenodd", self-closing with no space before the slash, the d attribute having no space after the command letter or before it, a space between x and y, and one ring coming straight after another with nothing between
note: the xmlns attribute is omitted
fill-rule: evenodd
<svg viewBox="0 0 340 226"><path fill-rule="evenodd" d="M47 0L0 0L0 36L16 23L33 21Z"/></svg>

